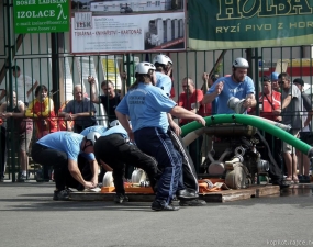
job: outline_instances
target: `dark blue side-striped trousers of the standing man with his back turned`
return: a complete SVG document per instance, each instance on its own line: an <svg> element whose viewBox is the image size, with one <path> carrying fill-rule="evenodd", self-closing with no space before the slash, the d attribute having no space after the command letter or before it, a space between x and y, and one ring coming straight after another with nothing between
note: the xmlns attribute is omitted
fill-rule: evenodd
<svg viewBox="0 0 313 247"><path fill-rule="evenodd" d="M145 127L136 131L135 142L137 147L153 156L163 173L157 184L156 200L161 205L167 205L176 195L177 190L182 190L181 165L182 158L174 148L172 142L168 133L164 133L161 128Z"/></svg>

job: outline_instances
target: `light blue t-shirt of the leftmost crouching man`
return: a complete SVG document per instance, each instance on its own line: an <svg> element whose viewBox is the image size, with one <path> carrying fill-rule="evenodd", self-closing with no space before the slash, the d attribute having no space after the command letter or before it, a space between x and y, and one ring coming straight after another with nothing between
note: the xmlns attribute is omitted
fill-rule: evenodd
<svg viewBox="0 0 313 247"><path fill-rule="evenodd" d="M67 154L67 158L77 161L78 155L81 154L88 160L96 160L94 155L86 154L80 150L80 144L83 139L83 135L72 132L55 132L45 135L37 141L37 144L64 151Z"/></svg>

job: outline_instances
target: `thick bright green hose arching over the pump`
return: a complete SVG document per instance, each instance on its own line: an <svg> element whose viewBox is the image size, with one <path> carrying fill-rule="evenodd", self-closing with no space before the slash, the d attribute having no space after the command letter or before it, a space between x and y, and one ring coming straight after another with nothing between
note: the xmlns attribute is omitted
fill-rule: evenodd
<svg viewBox="0 0 313 247"><path fill-rule="evenodd" d="M310 158L313 157L313 147L295 138L293 135L289 134L288 132L264 121L261 117L255 117L245 114L217 114L217 115L206 116L204 117L204 120L206 122L206 126L213 124L222 124L222 123L241 123L241 124L255 126L292 145L293 147L295 147L295 149L308 155L308 157ZM188 133L193 132L201 127L203 126L195 121L186 124L181 127L182 132L181 136L185 136Z"/></svg>

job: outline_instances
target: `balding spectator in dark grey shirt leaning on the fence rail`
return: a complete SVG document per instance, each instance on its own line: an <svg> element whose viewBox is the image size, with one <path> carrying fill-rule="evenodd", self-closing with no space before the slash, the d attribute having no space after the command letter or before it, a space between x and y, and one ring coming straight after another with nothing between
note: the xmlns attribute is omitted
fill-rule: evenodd
<svg viewBox="0 0 313 247"><path fill-rule="evenodd" d="M59 116L66 121L75 121L74 132L81 133L83 128L98 125L94 116L96 109L90 99L83 97L85 90L81 85L74 87L75 99L69 101Z"/></svg>

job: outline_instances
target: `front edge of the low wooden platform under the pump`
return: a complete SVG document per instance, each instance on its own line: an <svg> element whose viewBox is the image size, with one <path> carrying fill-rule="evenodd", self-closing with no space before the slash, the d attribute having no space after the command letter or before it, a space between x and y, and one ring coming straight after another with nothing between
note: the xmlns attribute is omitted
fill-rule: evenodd
<svg viewBox="0 0 313 247"><path fill-rule="evenodd" d="M113 201L115 193L100 192L71 192L70 200L72 201ZM239 190L222 190L219 192L210 192L200 194L200 199L206 202L231 202L250 198L260 198L269 195L279 195L280 189L278 186L253 186L247 189ZM130 202L152 202L154 194L144 193L126 193Z"/></svg>

